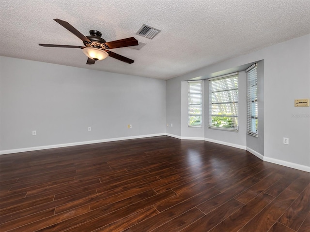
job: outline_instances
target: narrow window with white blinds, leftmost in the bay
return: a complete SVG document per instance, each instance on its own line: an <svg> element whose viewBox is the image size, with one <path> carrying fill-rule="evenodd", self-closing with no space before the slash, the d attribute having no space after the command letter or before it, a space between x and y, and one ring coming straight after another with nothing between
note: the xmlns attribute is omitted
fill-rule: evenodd
<svg viewBox="0 0 310 232"><path fill-rule="evenodd" d="M188 127L202 127L202 81L188 81Z"/></svg>

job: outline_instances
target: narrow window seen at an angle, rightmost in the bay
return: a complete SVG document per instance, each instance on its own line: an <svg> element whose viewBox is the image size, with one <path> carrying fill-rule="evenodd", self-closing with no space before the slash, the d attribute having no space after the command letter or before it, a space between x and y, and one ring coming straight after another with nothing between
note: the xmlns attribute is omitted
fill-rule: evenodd
<svg viewBox="0 0 310 232"><path fill-rule="evenodd" d="M247 133L258 136L257 64L247 70Z"/></svg>

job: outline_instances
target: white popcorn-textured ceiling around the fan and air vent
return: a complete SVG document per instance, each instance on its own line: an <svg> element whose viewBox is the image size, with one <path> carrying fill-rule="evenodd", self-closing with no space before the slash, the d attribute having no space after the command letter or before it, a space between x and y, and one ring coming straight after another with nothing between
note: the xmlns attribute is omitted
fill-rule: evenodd
<svg viewBox="0 0 310 232"><path fill-rule="evenodd" d="M134 59L86 65L80 49L38 43L83 42L56 23L106 41L134 36L140 50L112 49ZM153 39L136 35L143 24L161 30ZM310 0L1 0L0 55L74 67L170 79L204 66L310 33Z"/></svg>

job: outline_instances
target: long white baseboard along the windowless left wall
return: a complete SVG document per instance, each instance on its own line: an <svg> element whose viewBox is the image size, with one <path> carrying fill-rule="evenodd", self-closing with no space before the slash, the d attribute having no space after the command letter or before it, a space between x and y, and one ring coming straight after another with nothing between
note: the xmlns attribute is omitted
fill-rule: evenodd
<svg viewBox="0 0 310 232"><path fill-rule="evenodd" d="M66 147L66 146L78 146L78 145L97 144L97 143L105 143L105 142L128 140L128 139L140 139L140 138L156 137L156 136L162 136L162 135L166 135L166 133L146 134L146 135L138 135L138 136L111 138L111 139L99 139L99 140L83 141L83 142L76 142L76 143L69 143L69 144L34 146L34 147L26 147L26 148L19 148L19 149L3 150L3 151L0 151L0 155L25 152L25 151L37 151L37 150L45 150L45 149L51 149L51 148L60 148L60 147Z"/></svg>

